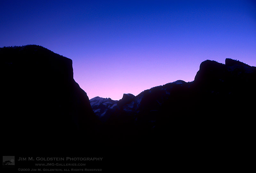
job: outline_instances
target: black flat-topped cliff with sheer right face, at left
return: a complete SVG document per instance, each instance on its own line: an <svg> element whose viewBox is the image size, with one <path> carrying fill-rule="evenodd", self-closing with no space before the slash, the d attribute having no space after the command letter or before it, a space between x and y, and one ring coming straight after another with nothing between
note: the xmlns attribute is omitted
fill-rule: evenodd
<svg viewBox="0 0 256 173"><path fill-rule="evenodd" d="M71 59L36 45L1 48L0 57L8 147L55 149L95 135L99 122L73 79Z"/></svg>

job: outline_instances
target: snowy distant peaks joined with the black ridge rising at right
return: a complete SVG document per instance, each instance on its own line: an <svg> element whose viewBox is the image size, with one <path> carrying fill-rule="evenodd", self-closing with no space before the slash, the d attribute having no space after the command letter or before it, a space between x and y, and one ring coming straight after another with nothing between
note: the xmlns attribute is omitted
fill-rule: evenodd
<svg viewBox="0 0 256 173"><path fill-rule="evenodd" d="M137 96L124 94L119 101L95 97L90 103L104 124L119 129L111 133L159 136L180 129L179 135L182 131L197 136L214 132L223 137L224 129L236 130L238 121L251 118L255 79L256 67L229 58L225 64L206 60L192 82L177 80Z"/></svg>

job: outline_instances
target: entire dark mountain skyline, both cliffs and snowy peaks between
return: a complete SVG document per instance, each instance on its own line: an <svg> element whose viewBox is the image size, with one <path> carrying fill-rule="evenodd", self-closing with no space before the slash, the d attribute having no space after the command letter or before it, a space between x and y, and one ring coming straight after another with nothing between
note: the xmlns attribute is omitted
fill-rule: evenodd
<svg viewBox="0 0 256 173"><path fill-rule="evenodd" d="M89 101L71 59L36 45L0 48L0 57L4 148L110 154L109 165L151 170L161 153L167 165L212 166L244 158L253 144L256 67L240 61L206 60L192 82Z"/></svg>

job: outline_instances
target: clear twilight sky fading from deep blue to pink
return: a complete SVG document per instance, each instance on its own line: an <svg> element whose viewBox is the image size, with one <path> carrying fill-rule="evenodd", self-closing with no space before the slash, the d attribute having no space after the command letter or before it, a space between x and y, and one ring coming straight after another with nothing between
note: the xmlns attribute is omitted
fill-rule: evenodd
<svg viewBox="0 0 256 173"><path fill-rule="evenodd" d="M2 1L0 47L36 44L73 61L89 99L119 100L176 80L201 62L256 65L256 2Z"/></svg>

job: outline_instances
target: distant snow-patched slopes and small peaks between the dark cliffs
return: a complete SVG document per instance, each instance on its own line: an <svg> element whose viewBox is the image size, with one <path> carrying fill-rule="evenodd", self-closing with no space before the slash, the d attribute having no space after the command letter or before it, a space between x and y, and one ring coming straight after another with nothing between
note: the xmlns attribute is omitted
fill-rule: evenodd
<svg viewBox="0 0 256 173"><path fill-rule="evenodd" d="M134 117L134 122L138 120L137 115L146 109L149 112L157 112L163 102L170 96L172 88L188 87L188 83L183 80L177 80L168 83L164 86L156 86L151 89L141 92L139 95L124 94L119 101L113 101L110 98L94 97L90 100L94 113L102 120L106 121L109 118L120 114L129 114ZM154 103L149 102L153 101ZM104 118L103 118L104 117ZM139 118L140 119L140 118ZM147 121L156 122L156 117L151 117ZM153 127L154 125L152 125Z"/></svg>

